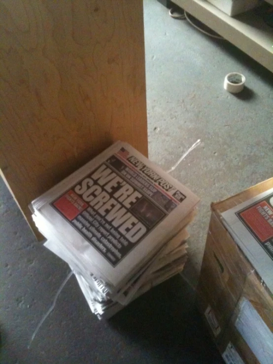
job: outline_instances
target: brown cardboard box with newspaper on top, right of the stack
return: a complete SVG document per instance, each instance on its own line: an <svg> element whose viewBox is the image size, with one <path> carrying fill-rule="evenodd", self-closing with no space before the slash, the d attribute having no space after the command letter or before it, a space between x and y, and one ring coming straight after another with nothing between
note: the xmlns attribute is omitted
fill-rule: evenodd
<svg viewBox="0 0 273 364"><path fill-rule="evenodd" d="M273 178L211 205L197 298L226 363L273 363L272 292L221 220L222 212L272 187Z"/></svg>

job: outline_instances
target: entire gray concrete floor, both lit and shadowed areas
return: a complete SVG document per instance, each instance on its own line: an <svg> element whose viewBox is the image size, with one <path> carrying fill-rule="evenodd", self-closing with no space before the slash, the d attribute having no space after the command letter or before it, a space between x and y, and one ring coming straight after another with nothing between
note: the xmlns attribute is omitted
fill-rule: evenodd
<svg viewBox="0 0 273 364"><path fill-rule="evenodd" d="M210 202L273 175L273 77L231 44L171 19L155 0L144 0L144 22L150 159L169 169L202 140L172 172L202 199L184 271L195 286ZM231 71L246 77L238 97L223 89ZM222 363L194 291L179 277L109 322L90 314L71 278L28 350L69 269L35 241L2 181L0 219L0 363Z"/></svg>

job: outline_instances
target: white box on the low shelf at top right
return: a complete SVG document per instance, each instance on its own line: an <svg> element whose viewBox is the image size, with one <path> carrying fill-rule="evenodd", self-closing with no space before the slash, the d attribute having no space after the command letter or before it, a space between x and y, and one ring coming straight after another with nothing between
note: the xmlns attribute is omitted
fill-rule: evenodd
<svg viewBox="0 0 273 364"><path fill-rule="evenodd" d="M207 0L226 14L234 16L261 4L261 0Z"/></svg>

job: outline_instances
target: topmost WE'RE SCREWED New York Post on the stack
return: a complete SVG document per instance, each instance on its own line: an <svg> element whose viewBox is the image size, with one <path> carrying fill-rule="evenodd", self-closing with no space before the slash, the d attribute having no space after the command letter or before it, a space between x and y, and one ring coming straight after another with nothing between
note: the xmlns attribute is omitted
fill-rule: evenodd
<svg viewBox="0 0 273 364"><path fill-rule="evenodd" d="M58 234L74 263L117 292L198 201L130 145L117 142L34 200L31 209L40 231Z"/></svg>

